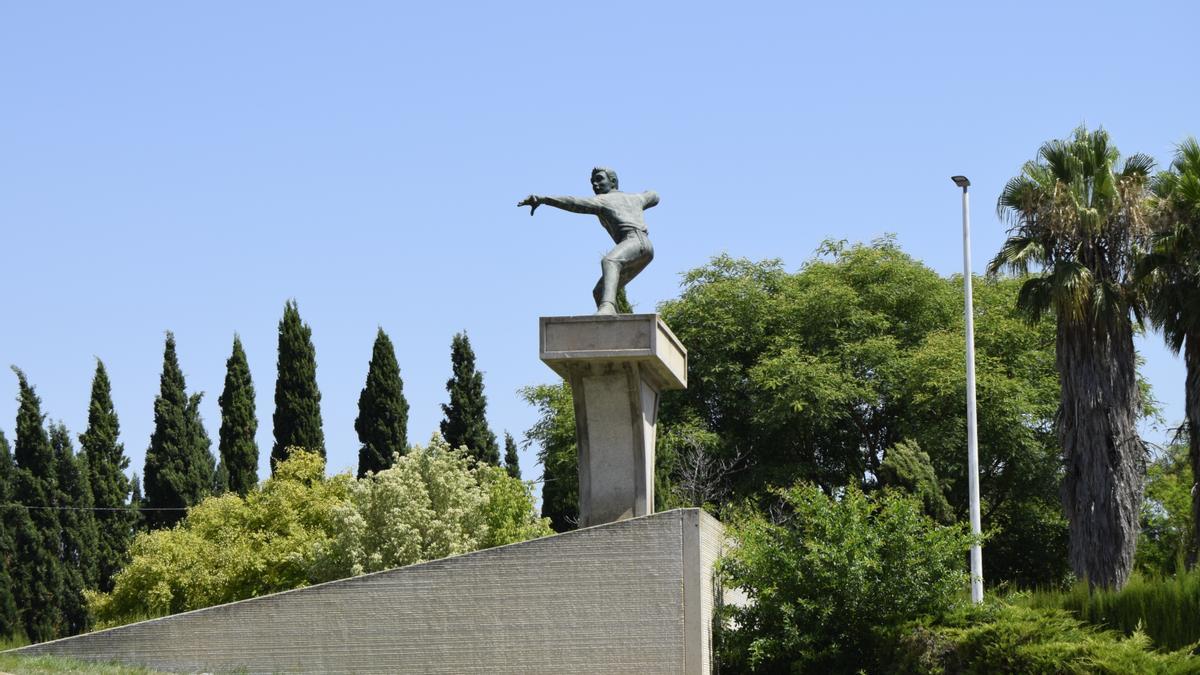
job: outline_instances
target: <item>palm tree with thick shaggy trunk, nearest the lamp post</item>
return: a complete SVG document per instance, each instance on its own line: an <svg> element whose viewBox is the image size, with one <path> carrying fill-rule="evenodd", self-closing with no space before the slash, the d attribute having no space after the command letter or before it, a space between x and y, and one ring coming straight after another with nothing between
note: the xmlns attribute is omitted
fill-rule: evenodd
<svg viewBox="0 0 1200 675"><path fill-rule="evenodd" d="M1042 145L1000 196L1009 237L989 265L991 274L1030 275L1018 306L1031 321L1046 313L1057 321L1070 565L1106 587L1129 578L1145 482L1133 347L1141 307L1132 277L1154 165L1133 155L1117 172L1118 160L1104 130L1079 127Z"/></svg>

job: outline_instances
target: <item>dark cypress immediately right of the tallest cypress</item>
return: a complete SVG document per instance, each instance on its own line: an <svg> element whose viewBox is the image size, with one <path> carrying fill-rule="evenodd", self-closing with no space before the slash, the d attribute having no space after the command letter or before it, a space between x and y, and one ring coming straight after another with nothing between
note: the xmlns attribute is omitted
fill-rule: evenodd
<svg viewBox="0 0 1200 675"><path fill-rule="evenodd" d="M376 334L367 366L367 383L359 394L359 478L368 471L383 471L392 465L392 453L408 452L408 401L400 378L396 350L383 328Z"/></svg>

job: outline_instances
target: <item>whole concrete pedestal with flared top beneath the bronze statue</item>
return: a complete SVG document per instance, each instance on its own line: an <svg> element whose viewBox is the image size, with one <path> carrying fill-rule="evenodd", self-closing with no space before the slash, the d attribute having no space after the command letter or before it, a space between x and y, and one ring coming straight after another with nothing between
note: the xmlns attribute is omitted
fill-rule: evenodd
<svg viewBox="0 0 1200 675"><path fill-rule="evenodd" d="M541 360L571 384L580 526L654 512L659 394L688 387L688 351L656 313L540 319Z"/></svg>

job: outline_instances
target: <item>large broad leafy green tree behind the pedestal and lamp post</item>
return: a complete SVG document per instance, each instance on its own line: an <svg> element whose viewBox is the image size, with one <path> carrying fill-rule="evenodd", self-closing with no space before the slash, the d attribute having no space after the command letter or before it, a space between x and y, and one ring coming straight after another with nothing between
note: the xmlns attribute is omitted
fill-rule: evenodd
<svg viewBox="0 0 1200 675"><path fill-rule="evenodd" d="M974 283L980 492L992 530L984 573L989 584L1057 584L1067 555L1055 334L1014 307L1020 286ZM961 293L960 277L938 276L889 238L828 241L796 273L728 256L686 273L680 297L660 306L688 346L689 387L662 398L656 473L671 484L658 492L716 508L742 496L769 502L767 486L796 480L870 490L889 449L911 442L954 516L966 518ZM554 452L542 444L540 455L547 482L572 485L569 390L540 393L554 416L527 437L551 442Z"/></svg>

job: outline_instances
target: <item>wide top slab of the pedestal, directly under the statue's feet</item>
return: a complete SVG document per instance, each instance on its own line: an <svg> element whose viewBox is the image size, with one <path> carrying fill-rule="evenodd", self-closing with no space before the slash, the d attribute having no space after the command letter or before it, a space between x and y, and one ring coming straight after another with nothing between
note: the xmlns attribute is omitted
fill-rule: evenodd
<svg viewBox="0 0 1200 675"><path fill-rule="evenodd" d="M660 389L688 388L688 350L656 313L544 316L541 360L569 378L571 364L636 362Z"/></svg>

